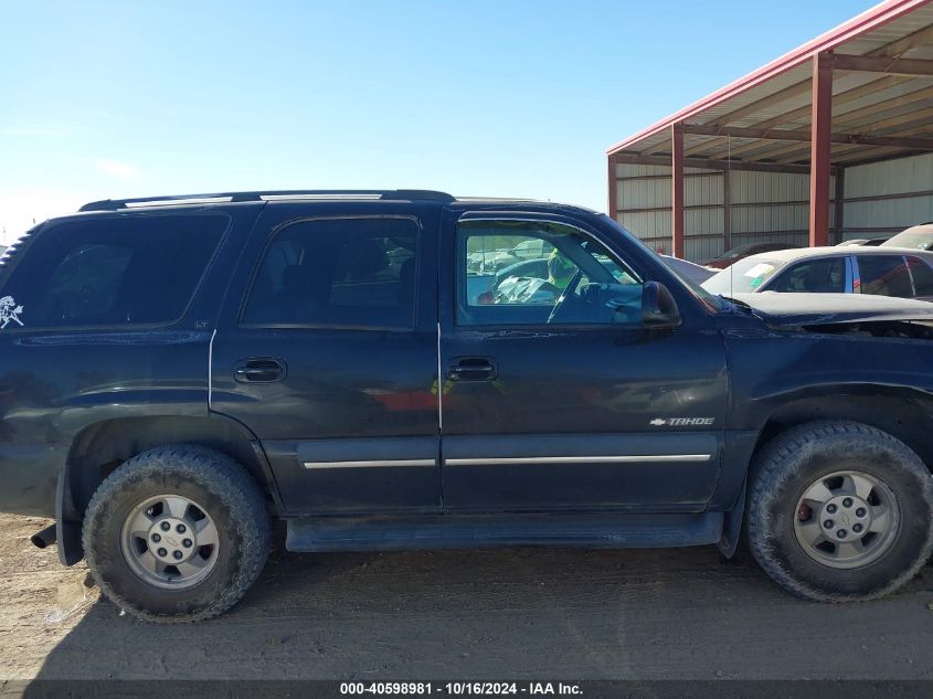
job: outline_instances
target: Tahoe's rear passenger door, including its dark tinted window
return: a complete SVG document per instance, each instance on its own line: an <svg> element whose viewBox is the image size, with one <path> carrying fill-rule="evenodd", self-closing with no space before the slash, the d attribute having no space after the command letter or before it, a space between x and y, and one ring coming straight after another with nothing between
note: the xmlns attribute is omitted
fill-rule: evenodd
<svg viewBox="0 0 933 699"><path fill-rule="evenodd" d="M437 219L381 201L261 215L213 341L211 410L255 433L289 512L439 506Z"/></svg>

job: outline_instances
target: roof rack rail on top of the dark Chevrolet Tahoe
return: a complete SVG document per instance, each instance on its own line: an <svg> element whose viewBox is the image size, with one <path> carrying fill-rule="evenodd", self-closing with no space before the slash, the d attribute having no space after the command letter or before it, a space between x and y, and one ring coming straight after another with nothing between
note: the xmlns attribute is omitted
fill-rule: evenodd
<svg viewBox="0 0 933 699"><path fill-rule="evenodd" d="M385 200L427 200L449 203L456 201L445 192L427 189L394 190L326 190L326 189L284 189L256 192L214 192L211 194L179 194L171 197L142 197L139 199L104 199L84 204L78 211L118 211L139 206L168 206L172 204L208 204L238 201L275 201L285 199L385 199Z"/></svg>

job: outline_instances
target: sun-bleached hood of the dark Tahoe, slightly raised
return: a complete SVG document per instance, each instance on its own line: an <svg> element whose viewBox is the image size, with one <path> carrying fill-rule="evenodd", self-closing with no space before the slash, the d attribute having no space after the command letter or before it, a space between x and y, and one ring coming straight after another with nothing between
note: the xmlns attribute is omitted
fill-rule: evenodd
<svg viewBox="0 0 933 699"><path fill-rule="evenodd" d="M861 294L733 294L770 325L826 326L846 322L933 322L933 304Z"/></svg>

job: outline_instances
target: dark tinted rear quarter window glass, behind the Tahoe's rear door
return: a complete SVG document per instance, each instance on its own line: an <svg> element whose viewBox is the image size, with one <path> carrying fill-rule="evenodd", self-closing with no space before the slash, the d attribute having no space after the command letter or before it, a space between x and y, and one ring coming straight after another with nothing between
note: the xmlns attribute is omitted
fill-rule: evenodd
<svg viewBox="0 0 933 699"><path fill-rule="evenodd" d="M168 325L187 309L225 215L135 215L52 224L23 251L2 297L25 329Z"/></svg>

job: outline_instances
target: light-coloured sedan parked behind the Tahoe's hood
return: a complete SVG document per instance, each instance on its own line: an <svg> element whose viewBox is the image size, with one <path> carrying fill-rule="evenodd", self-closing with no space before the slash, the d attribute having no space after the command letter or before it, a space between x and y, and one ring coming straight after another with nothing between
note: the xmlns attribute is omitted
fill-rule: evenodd
<svg viewBox="0 0 933 699"><path fill-rule="evenodd" d="M872 294L933 300L933 252L805 247L752 255L703 282L710 294Z"/></svg>

